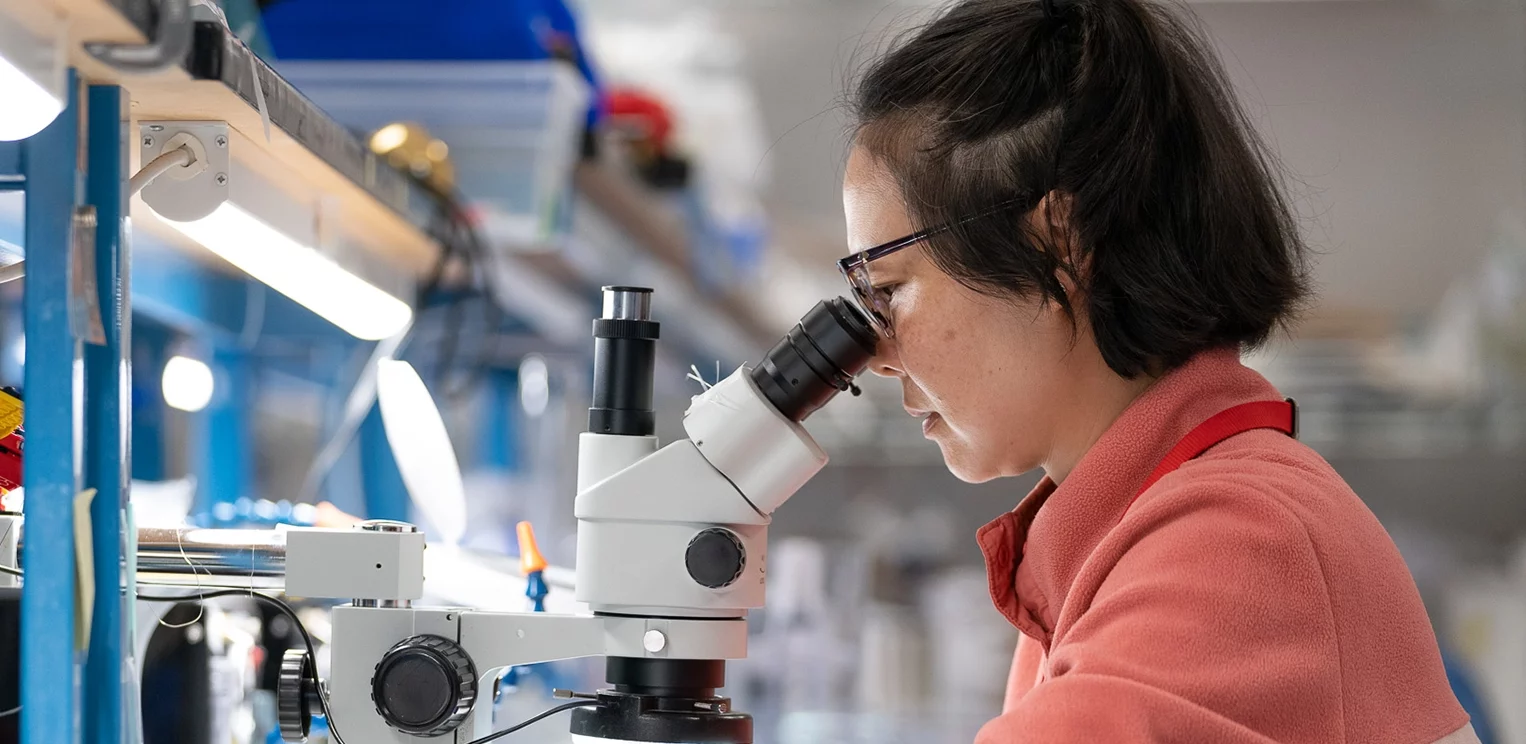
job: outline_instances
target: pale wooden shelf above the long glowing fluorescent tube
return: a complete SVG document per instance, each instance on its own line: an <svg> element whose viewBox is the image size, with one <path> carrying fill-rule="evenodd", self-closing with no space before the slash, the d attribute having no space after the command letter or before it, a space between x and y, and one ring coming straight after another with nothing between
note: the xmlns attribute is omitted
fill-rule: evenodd
<svg viewBox="0 0 1526 744"><path fill-rule="evenodd" d="M227 29L197 23L183 64L136 75L101 64L85 41L143 43L146 6L140 0L0 0L0 23L15 20L37 35L67 24L69 63L85 82L122 85L133 122L226 120L230 156L293 200L327 201L342 230L369 253L415 276L435 262L439 245L427 235L429 197L401 172L366 149L281 79ZM140 26L142 24L142 26ZM258 91L262 93L256 95ZM261 116L259 99L269 116ZM133 166L137 168L136 151Z"/></svg>

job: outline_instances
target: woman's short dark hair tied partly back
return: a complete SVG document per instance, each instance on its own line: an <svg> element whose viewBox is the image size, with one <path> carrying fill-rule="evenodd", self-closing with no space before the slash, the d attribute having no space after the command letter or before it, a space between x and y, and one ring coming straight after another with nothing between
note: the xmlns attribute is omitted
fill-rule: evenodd
<svg viewBox="0 0 1526 744"><path fill-rule="evenodd" d="M850 101L856 143L913 221L948 227L926 242L934 264L1083 311L1119 375L1260 345L1306 297L1280 171L1184 8L961 0L873 61ZM1033 226L1047 194L1064 247Z"/></svg>

